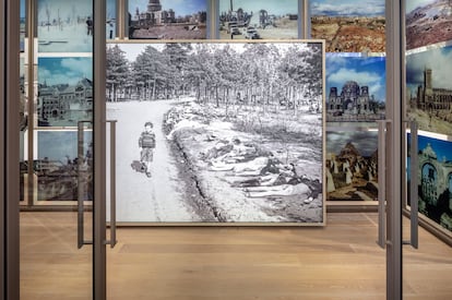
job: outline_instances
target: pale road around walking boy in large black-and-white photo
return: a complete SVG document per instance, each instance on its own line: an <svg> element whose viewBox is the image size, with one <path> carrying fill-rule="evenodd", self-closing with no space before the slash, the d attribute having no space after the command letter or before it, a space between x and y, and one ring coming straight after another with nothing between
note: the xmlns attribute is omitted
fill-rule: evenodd
<svg viewBox="0 0 452 300"><path fill-rule="evenodd" d="M168 101L108 103L109 120L117 123L117 219L118 221L200 221L185 201L183 181L178 178L175 158L162 131L163 117L171 108ZM140 160L138 140L144 123L152 121L156 148L153 176L131 168Z"/></svg>

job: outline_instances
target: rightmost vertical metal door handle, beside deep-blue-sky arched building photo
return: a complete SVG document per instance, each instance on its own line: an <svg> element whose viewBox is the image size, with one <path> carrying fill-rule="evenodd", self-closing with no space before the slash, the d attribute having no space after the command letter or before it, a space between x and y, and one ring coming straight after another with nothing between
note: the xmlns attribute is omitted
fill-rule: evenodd
<svg viewBox="0 0 452 300"><path fill-rule="evenodd" d="M418 141L417 141L417 122L415 120L409 121L411 132L411 147L409 147L409 206L411 206L411 240L404 242L404 244L411 244L414 249L419 247L418 235L418 169L419 159L417 156Z"/></svg>

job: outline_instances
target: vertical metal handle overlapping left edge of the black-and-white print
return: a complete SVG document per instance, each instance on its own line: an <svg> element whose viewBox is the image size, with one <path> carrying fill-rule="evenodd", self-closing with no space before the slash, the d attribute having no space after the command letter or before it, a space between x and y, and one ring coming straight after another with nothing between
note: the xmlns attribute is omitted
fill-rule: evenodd
<svg viewBox="0 0 452 300"><path fill-rule="evenodd" d="M116 123L117 120L107 120L110 124L110 240L106 241L115 248L116 240Z"/></svg>

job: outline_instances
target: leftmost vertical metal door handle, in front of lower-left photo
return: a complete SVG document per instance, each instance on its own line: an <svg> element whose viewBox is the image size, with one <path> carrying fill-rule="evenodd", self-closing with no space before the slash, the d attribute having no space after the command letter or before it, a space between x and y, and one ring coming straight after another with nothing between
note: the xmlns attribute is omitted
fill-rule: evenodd
<svg viewBox="0 0 452 300"><path fill-rule="evenodd" d="M84 185L86 184L86 180L82 180L82 176L87 176L87 170L84 168L84 142L85 142L85 123L92 123L91 121L79 121L78 123L78 248L81 249L85 244L93 244L93 241L85 240L85 232L84 232L84 206L83 206L83 191L85 189Z"/></svg>

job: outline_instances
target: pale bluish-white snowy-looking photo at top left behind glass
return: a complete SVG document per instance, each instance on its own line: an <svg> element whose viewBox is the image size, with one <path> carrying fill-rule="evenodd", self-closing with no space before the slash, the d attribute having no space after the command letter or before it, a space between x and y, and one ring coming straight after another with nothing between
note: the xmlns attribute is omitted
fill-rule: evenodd
<svg viewBox="0 0 452 300"><path fill-rule="evenodd" d="M37 1L39 52L92 52L93 0Z"/></svg>

